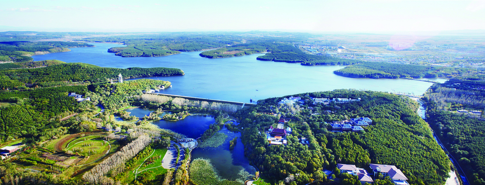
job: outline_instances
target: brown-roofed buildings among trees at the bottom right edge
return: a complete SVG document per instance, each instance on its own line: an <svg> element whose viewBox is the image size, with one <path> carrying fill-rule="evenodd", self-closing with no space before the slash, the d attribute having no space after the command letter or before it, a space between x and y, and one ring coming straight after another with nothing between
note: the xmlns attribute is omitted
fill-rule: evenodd
<svg viewBox="0 0 485 185"><path fill-rule="evenodd" d="M389 176L395 185L409 185L409 183L406 181L408 180L406 175L404 175L404 173L394 165L369 164L369 167L372 169L374 178L378 177L380 173L382 178ZM337 168L340 170L340 173L356 175L362 184L366 182L374 182L367 171L363 168L358 168L357 166L350 164L337 164Z"/></svg>

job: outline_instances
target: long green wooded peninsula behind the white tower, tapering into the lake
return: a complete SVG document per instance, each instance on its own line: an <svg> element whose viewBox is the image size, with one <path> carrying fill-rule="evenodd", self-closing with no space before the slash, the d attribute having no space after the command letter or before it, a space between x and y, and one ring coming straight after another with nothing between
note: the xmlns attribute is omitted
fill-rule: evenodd
<svg viewBox="0 0 485 185"><path fill-rule="evenodd" d="M117 79L118 74L124 78L142 76L183 75L183 71L175 68L103 68L83 63L64 63L43 68L6 69L0 70L0 88L13 89L25 87L21 83L38 86L52 86L56 83L47 82L103 82Z"/></svg>

